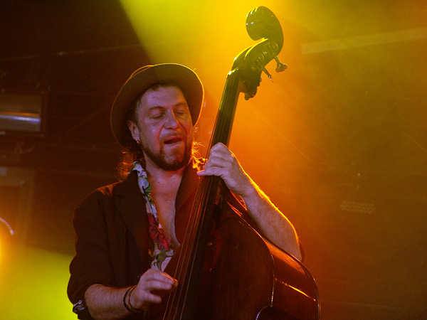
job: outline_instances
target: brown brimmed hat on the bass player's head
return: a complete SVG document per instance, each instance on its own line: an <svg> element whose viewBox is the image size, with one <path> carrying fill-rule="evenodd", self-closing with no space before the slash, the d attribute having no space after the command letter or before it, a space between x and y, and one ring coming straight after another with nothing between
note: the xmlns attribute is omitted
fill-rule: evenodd
<svg viewBox="0 0 427 320"><path fill-rule="evenodd" d="M129 110L142 92L159 82L172 82L181 87L189 105L191 121L196 125L204 99L204 88L196 73L185 65L176 63L146 65L132 73L112 104L111 129L122 146L127 146L130 139L126 119Z"/></svg>

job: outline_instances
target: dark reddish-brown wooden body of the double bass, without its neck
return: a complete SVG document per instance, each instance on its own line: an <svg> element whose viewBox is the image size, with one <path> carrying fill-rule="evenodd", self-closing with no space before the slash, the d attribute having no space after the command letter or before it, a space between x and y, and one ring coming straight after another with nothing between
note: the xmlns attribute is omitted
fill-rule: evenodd
<svg viewBox="0 0 427 320"><path fill-rule="evenodd" d="M243 210L227 201L215 210L196 319L319 319L310 273L245 218Z"/></svg>

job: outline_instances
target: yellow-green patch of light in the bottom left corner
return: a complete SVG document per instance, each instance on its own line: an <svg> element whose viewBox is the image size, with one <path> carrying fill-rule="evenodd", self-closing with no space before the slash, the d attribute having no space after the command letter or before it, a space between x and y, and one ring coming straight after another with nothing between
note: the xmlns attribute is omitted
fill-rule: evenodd
<svg viewBox="0 0 427 320"><path fill-rule="evenodd" d="M2 242L1 319L74 320L66 286L71 256Z"/></svg>

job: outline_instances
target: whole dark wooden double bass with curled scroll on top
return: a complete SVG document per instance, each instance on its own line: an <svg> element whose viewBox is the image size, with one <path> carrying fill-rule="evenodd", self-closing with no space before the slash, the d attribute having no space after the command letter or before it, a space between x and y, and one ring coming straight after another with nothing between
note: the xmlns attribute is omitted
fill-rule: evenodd
<svg viewBox="0 0 427 320"><path fill-rule="evenodd" d="M272 11L251 10L246 28L254 41L262 40L234 59L209 148L228 145L238 96L255 96L261 73L268 74L265 65L275 59L276 71L286 67L277 58L283 32ZM320 319L310 272L257 232L242 203L216 176L201 177L184 241L169 264L179 286L165 297L164 320Z"/></svg>

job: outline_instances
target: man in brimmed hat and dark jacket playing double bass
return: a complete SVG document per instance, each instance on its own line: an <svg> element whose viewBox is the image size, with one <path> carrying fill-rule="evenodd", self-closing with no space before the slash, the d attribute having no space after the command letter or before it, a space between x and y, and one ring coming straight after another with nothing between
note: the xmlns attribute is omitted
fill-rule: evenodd
<svg viewBox="0 0 427 320"><path fill-rule="evenodd" d="M203 97L198 76L176 64L140 68L118 93L111 124L128 151L127 178L75 210L68 295L80 319L137 317L179 285L164 270L181 245L198 176L220 176L260 233L301 259L294 228L226 146L213 146L196 170L191 152Z"/></svg>

